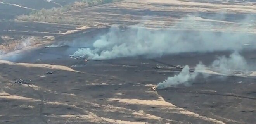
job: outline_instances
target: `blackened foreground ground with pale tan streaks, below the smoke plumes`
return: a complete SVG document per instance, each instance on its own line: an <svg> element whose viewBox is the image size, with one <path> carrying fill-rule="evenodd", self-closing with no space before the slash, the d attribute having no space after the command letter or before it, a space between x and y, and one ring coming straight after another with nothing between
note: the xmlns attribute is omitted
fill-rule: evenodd
<svg viewBox="0 0 256 124"><path fill-rule="evenodd" d="M120 32L124 32L120 29ZM179 53L161 57L74 60L78 48L92 48L108 30L82 33L59 47L36 48L1 61L1 111L4 124L253 124L254 76L202 75L188 85L148 91L167 77L206 66L230 51ZM66 44L62 46L60 44ZM248 47L248 46L246 46ZM247 49L247 50L246 50ZM255 50L242 55L254 63ZM250 69L255 71L255 69ZM52 72L52 74L46 74ZM17 79L31 80L16 84Z"/></svg>

